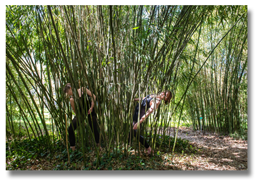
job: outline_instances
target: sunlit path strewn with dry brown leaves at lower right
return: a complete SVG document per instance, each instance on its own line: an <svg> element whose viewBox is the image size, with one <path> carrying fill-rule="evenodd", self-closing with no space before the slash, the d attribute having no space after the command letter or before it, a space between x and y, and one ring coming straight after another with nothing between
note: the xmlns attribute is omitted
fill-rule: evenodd
<svg viewBox="0 0 256 192"><path fill-rule="evenodd" d="M166 135L173 136L173 128ZM247 141L229 136L179 128L178 137L197 147L198 153L176 155L174 169L182 170L247 170Z"/></svg>

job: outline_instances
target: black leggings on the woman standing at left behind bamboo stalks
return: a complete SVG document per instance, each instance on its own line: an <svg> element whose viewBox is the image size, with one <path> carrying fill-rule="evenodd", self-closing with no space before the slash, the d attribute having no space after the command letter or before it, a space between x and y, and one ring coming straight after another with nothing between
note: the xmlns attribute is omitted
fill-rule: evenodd
<svg viewBox="0 0 256 192"><path fill-rule="evenodd" d="M94 133L95 141L96 141L96 143L99 143L99 133L98 133L98 130L97 130L96 116L92 116L92 117L89 116L88 121L89 121L91 131L93 131L93 133ZM79 126L78 125L79 123L78 123L78 120L77 120L76 116L74 117L74 119L72 120L72 122L70 123L70 126L69 126L69 142L70 142L71 147L75 146L75 134L74 134L72 124L74 126L74 130L77 129L77 127Z"/></svg>

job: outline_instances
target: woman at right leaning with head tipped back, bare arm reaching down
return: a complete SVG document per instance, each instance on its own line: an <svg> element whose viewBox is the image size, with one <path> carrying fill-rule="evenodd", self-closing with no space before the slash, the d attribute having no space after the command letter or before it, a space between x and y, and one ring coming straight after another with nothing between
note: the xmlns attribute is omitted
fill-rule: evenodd
<svg viewBox="0 0 256 192"><path fill-rule="evenodd" d="M172 94L171 94L171 91L169 91L169 90L164 91L164 92L160 93L159 95L156 95L155 99L153 99L154 95L147 95L147 97L144 97L141 102L141 113L140 114L139 114L139 103L137 104L137 106L135 107L135 110L134 110L134 115L133 115L133 136L134 137L136 137L136 135L137 135L138 123L141 124L143 121L145 121L145 119L147 117L149 117L149 115L151 113L153 113L153 111L158 108L158 106L160 105L162 100L165 101L165 104L169 104L171 97L172 97ZM139 101L139 99L134 99L134 101ZM139 122L138 122L138 115L139 115ZM144 145L145 148L147 149L147 154L150 154L152 149L149 146L149 144L147 143L146 139L144 139L142 137L142 135L140 135L139 133L138 133L137 137L139 137L138 138L139 142L141 142L142 145ZM129 141L130 141L130 134L129 134Z"/></svg>

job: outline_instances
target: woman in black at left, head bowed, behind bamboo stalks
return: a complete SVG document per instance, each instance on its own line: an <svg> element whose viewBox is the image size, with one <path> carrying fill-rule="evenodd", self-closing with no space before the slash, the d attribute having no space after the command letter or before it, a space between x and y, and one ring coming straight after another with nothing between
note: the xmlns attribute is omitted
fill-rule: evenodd
<svg viewBox="0 0 256 192"><path fill-rule="evenodd" d="M91 102L90 102L90 99L88 97L88 96L94 97L94 100L95 100L96 96L94 94L92 94L91 91L89 91L85 87L81 87L81 89L78 89L77 91L78 91L78 94L79 94L79 100L80 101L77 101L76 103L78 105L77 109L80 112L79 114L81 115L81 122L83 122L85 120L85 115L83 114L83 111L84 111L84 113L88 116L89 125L91 127L91 131L93 131L93 133L94 133L95 141L101 149L101 146L99 145L99 133L98 133L98 130L97 130L96 113L94 111L94 101L93 101L93 99L91 99ZM72 109L75 113L75 117L74 117L74 119L72 120L72 122L69 126L70 148L74 151L75 150L74 130L77 129L77 127L79 126L78 125L79 121L77 119L77 113L75 111L75 101L74 101L74 98L73 98L73 91L71 89L71 84L70 83L67 83L67 85L64 88L64 92L67 95L71 96L70 104L71 104L71 107L72 107ZM84 92L86 93L86 95L84 94ZM82 105L81 105L81 103L82 103ZM85 111L86 109L89 109L89 110ZM73 130L73 127L74 127L74 130Z"/></svg>

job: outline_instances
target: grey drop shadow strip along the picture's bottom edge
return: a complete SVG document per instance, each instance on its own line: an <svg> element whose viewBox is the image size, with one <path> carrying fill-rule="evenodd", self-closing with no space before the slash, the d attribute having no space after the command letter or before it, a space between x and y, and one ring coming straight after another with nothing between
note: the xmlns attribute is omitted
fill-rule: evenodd
<svg viewBox="0 0 256 192"><path fill-rule="evenodd" d="M249 174L253 173L253 174ZM253 180L250 171L5 171L6 180Z"/></svg>

